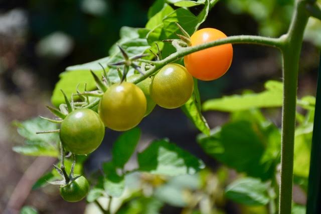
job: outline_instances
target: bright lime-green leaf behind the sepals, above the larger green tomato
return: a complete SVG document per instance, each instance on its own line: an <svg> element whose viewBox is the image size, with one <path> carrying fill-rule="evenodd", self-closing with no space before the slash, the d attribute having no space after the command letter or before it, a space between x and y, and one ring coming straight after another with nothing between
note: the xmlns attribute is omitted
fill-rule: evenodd
<svg viewBox="0 0 321 214"><path fill-rule="evenodd" d="M92 63L92 64L95 64L93 68L96 67L96 64L98 65L98 63ZM65 103L65 98L61 93L61 90L63 90L66 93L67 97L71 97L73 93L74 94L77 93L76 89L78 84L79 84L78 88L80 92L83 92L85 90L85 84L87 86L88 91L94 90L97 88L96 82L93 76L91 75L90 70L89 69L86 70L84 68L86 66L87 65L83 65L83 68L79 70L74 70L76 67L68 67L67 71L59 75L60 80L56 84L55 89L53 91L53 95L51 97L51 102L54 106L58 107L60 104ZM80 66L77 66L77 67L80 68ZM88 65L88 67L91 67L91 65ZM102 68L99 66L99 70L94 71L94 73L97 76L101 77Z"/></svg>

